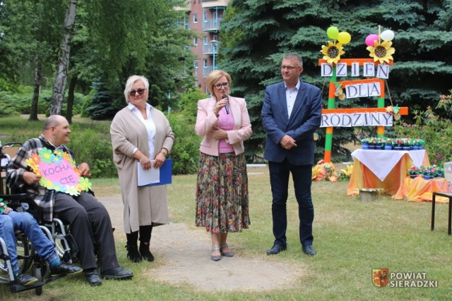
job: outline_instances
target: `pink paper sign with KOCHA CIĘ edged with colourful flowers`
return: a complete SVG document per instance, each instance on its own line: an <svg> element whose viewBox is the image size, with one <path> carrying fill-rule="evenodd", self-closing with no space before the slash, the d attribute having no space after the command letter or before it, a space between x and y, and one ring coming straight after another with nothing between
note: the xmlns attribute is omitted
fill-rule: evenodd
<svg viewBox="0 0 452 301"><path fill-rule="evenodd" d="M88 191L92 187L88 178L80 176L71 155L59 149L52 152L43 147L39 154L31 154L31 158L27 159L27 165L42 177L40 185L49 190L80 195L82 191Z"/></svg>

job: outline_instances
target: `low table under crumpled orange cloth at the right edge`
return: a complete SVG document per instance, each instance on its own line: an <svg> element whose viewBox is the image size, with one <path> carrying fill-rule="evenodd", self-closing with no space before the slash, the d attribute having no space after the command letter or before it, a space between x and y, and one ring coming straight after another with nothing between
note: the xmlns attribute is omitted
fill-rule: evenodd
<svg viewBox="0 0 452 301"><path fill-rule="evenodd" d="M445 178L424 180L422 176L406 177L396 195L393 195L393 199L405 199L408 202L432 202L432 193L435 191L449 191ZM436 202L448 203L448 198L436 196Z"/></svg>

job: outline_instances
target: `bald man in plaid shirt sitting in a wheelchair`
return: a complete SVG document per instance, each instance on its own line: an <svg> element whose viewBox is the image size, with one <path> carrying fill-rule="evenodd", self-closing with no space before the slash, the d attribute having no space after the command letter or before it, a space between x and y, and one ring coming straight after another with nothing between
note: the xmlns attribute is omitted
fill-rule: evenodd
<svg viewBox="0 0 452 301"><path fill-rule="evenodd" d="M61 150L73 156L71 149L66 147L70 133L66 118L59 115L49 116L40 137L26 141L8 164L6 183L13 190L27 192L41 208L45 221L52 221L55 216L69 225L78 245L81 267L90 285L102 283L97 271L96 251L102 278L132 278L131 271L119 266L112 223L104 205L89 192L83 191L78 196L72 196L45 188L40 185L41 176L33 173L26 162L33 153L39 154L44 147L52 152ZM90 176L90 168L86 163L79 164L78 171L80 176Z"/></svg>

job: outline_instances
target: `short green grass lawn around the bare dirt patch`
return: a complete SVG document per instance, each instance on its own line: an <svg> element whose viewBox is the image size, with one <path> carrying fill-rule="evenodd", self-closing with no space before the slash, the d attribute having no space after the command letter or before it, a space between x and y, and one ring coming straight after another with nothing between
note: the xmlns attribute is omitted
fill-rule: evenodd
<svg viewBox="0 0 452 301"><path fill-rule="evenodd" d="M272 245L270 187L266 168L249 170L251 228L230 235L233 245L244 247L246 256L268 260ZM168 185L172 223L194 227L196 176L175 176ZM119 193L117 179L93 179L97 196ZM297 231L297 207L290 191L287 211L288 250L277 260L305 271L290 290L262 292L203 292L189 285L169 285L145 277L153 264L132 264L126 259L124 242L117 242L119 262L135 274L132 281L103 281L90 287L83 276L63 278L33 291L11 294L0 287L3 300L451 300L452 238L447 235L447 204L437 204L436 229L430 231L431 203L394 201L383 196L376 202L347 197L347 183L313 183L314 247L318 254L301 252ZM274 257L273 257L274 258ZM272 259L273 260L273 259ZM155 264L165 265L157 261ZM377 288L372 269L391 272L425 272L438 288ZM187 271L189 274L189 271ZM218 279L221 281L221 279Z"/></svg>

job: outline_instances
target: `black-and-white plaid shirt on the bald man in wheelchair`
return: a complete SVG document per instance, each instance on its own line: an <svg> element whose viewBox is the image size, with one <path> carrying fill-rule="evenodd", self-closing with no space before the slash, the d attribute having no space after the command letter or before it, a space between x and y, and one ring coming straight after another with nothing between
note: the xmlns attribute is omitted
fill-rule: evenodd
<svg viewBox="0 0 452 301"><path fill-rule="evenodd" d="M19 192L26 192L35 201L35 203L42 209L44 220L52 221L54 213L55 202L55 190L48 190L41 185L28 185L23 180L23 173L25 171L33 172L30 166L27 166L26 160L31 157L32 153L39 154L40 149L46 147L54 151L55 149L61 149L63 152L67 152L73 157L71 149L66 145L60 145L54 147L44 135L40 135L39 138L33 138L26 141L13 160L8 164L6 173L6 183L9 188Z"/></svg>

